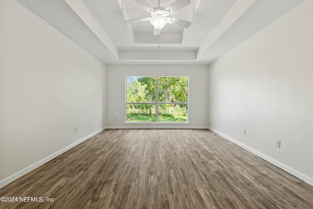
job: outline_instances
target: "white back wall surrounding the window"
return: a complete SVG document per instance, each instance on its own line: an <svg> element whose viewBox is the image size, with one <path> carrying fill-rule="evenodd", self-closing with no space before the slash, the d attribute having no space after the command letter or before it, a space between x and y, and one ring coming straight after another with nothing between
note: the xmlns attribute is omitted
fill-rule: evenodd
<svg viewBox="0 0 313 209"><path fill-rule="evenodd" d="M125 76L189 76L189 124L125 124ZM107 65L107 126L108 128L206 128L207 80L208 66Z"/></svg>

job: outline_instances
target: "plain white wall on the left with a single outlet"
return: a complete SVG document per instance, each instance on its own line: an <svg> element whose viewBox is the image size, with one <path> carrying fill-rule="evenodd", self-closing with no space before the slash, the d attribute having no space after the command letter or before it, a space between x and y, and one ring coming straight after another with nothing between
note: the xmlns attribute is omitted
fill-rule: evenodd
<svg viewBox="0 0 313 209"><path fill-rule="evenodd" d="M0 31L1 187L105 127L106 66L13 0Z"/></svg>

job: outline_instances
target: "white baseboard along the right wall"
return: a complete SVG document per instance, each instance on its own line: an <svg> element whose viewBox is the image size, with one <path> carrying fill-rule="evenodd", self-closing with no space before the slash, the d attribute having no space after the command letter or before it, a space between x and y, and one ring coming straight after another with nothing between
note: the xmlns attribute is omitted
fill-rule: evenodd
<svg viewBox="0 0 313 209"><path fill-rule="evenodd" d="M275 159L272 159L272 158L268 157L267 155L264 155L264 154L260 153L259 151L255 150L255 149L252 149L251 147L248 147L245 144L243 144L243 143L241 143L241 142L239 142L239 141L237 141L235 139L232 139L232 138L222 134L221 132L219 132L217 130L214 130L211 127L208 127L208 129L213 131L214 133L220 135L221 137L223 137L223 138L225 138L225 139L227 139L227 140L229 140L229 141L239 145L240 147L244 148L245 150L247 150L247 151L249 151L249 152L259 156L260 158L266 160L267 162L276 165L277 167L287 171L288 173L292 174L293 176L295 176L295 177L301 179L302 181L304 181L304 182L306 182L306 183L308 183L308 184L313 186L313 178L311 178L310 176L307 176L307 175L305 175L305 174L303 174L303 173L293 169L292 167L290 167L288 165L285 165L284 163L280 163L279 161L276 161Z"/></svg>

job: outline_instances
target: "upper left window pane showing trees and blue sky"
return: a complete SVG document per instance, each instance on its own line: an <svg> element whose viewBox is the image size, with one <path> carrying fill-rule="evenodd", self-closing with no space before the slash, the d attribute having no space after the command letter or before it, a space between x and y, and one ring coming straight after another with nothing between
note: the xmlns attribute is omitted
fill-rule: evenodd
<svg viewBox="0 0 313 209"><path fill-rule="evenodd" d="M126 77L127 102L155 102L156 77Z"/></svg>

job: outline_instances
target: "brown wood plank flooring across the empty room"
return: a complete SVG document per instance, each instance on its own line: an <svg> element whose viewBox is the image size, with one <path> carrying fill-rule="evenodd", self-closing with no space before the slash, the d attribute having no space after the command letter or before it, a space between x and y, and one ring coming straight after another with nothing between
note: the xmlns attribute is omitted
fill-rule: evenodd
<svg viewBox="0 0 313 209"><path fill-rule="evenodd" d="M0 189L0 209L313 209L313 186L209 130L108 129Z"/></svg>

